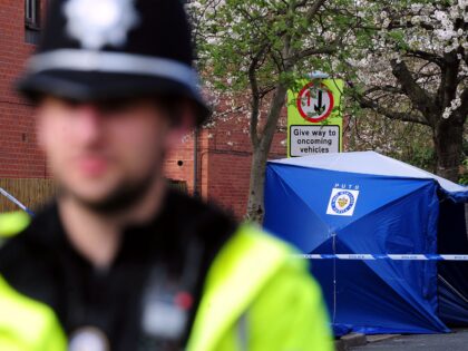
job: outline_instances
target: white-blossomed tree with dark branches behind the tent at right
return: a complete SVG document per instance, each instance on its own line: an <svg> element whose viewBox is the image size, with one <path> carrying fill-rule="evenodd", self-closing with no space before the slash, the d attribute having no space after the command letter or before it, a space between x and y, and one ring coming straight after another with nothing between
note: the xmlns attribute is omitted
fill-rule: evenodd
<svg viewBox="0 0 468 351"><path fill-rule="evenodd" d="M355 98L386 117L429 126L437 173L456 182L468 115L468 0L359 6L370 45L347 60L358 69Z"/></svg>

